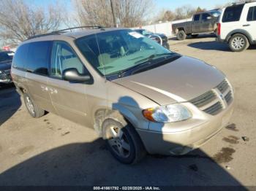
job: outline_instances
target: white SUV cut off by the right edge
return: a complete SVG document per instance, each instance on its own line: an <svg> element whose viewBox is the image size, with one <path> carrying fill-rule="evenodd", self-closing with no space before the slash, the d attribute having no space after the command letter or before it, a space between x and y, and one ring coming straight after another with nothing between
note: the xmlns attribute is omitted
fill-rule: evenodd
<svg viewBox="0 0 256 191"><path fill-rule="evenodd" d="M234 4L222 10L219 17L217 41L227 42L234 52L256 44L256 1Z"/></svg>

